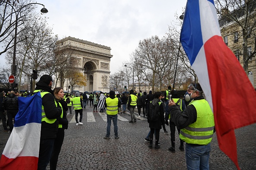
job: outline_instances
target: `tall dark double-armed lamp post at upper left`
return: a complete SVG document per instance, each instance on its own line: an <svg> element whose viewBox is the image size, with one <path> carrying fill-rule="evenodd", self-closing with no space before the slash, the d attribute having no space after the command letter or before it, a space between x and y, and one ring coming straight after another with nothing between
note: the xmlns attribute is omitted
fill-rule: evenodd
<svg viewBox="0 0 256 170"><path fill-rule="evenodd" d="M14 42L13 42L13 58L12 58L12 75L13 76L16 76L16 63L15 63L15 60L16 60L16 44L17 44L17 30L18 30L18 15L19 13L21 12L21 10L25 7L25 6L28 6L28 5L33 5L33 4L38 4L38 5L42 5L44 6L43 4L41 3L28 3L22 7L20 7L18 10L15 10L15 8L13 6L15 6L15 4L10 4L8 3L7 1L3 1L3 0L0 0L0 2L3 2L3 3L6 3L8 4L9 6L12 7L13 11L15 12L15 15L16 15L16 21L15 21L15 32L14 32ZM42 13L47 13L48 10L46 8L42 8L41 9L41 12ZM14 90L14 86L12 85L12 90Z"/></svg>

